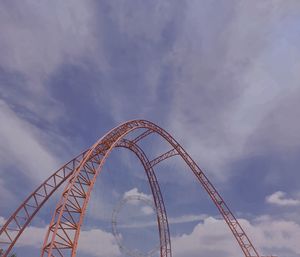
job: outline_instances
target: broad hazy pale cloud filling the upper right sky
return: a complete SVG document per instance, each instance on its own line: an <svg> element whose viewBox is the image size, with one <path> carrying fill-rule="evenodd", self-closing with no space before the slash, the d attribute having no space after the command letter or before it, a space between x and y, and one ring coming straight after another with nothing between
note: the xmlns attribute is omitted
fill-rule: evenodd
<svg viewBox="0 0 300 257"><path fill-rule="evenodd" d="M169 124L217 178L226 180L240 158L299 147L300 38L291 38L297 21L284 18L292 6L188 2L172 55L180 72Z"/></svg>

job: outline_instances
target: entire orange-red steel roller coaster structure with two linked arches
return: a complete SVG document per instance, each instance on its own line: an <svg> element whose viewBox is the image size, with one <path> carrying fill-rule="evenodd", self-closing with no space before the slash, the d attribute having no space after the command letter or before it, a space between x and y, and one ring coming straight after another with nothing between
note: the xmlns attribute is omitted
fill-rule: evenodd
<svg viewBox="0 0 300 257"><path fill-rule="evenodd" d="M138 136L134 139L128 139L128 136L132 134L133 131L134 133L139 132ZM149 160L139 145L139 142L152 133L160 135L162 139L169 143L171 149ZM183 161L194 173L196 179L208 193L210 199L223 216L244 256L262 257L253 246L239 221L230 211L221 195L195 161L168 132L146 120L128 121L110 130L91 148L63 165L33 191L2 226L0 230L0 249L2 249L0 250L0 257L9 256L13 246L31 220L64 182L66 182L65 188L53 212L52 220L42 246L41 257L75 257L80 228L93 186L103 168L105 160L116 147L127 148L135 153L145 169L157 215L159 251L161 257L171 257L172 250L167 213L160 186L154 172L154 166L175 155L181 156ZM116 228L113 227L113 230L114 229L116 230Z"/></svg>

